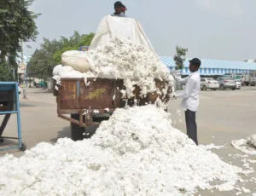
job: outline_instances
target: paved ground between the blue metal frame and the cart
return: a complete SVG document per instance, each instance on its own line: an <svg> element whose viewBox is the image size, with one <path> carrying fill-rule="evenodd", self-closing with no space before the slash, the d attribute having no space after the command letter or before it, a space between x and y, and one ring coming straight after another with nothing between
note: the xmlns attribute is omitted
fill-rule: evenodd
<svg viewBox="0 0 256 196"><path fill-rule="evenodd" d="M70 137L69 123L57 117L55 97L45 90L27 89L27 99L20 95L20 112L22 137L27 148L41 141L54 143L60 137ZM15 115L11 117L4 135L17 135ZM15 144L15 141L5 143ZM14 154L20 156L22 153Z"/></svg>

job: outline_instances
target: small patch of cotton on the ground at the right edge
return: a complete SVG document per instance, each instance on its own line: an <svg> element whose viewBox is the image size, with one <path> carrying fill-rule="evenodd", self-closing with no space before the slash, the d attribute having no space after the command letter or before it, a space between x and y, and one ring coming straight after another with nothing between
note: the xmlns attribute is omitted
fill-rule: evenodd
<svg viewBox="0 0 256 196"><path fill-rule="evenodd" d="M231 141L231 144L243 153L256 155L256 134L247 137L247 139Z"/></svg>

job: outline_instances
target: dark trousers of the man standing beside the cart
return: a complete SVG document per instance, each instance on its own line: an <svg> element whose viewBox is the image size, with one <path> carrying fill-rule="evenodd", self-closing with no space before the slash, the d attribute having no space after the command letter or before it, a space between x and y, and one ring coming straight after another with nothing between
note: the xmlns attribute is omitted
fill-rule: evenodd
<svg viewBox="0 0 256 196"><path fill-rule="evenodd" d="M185 118L186 118L186 126L187 126L187 135L190 139L195 141L195 144L198 145L197 142L197 126L195 123L195 112L191 110L185 111Z"/></svg>

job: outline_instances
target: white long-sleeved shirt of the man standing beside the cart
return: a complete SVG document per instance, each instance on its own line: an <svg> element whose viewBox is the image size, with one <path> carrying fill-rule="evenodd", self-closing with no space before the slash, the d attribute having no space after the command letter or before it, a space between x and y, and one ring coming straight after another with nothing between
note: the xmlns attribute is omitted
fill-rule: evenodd
<svg viewBox="0 0 256 196"><path fill-rule="evenodd" d="M178 81L186 83L185 90L179 94L183 101L181 107L184 110L191 110L196 112L199 105L199 93L200 93L200 82L201 78L198 72L192 72L187 78L177 78Z"/></svg>

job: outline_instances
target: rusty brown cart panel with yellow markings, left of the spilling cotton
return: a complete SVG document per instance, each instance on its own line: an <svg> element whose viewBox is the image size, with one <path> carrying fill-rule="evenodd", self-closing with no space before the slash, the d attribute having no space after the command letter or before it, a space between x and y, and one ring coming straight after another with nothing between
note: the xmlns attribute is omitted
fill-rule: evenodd
<svg viewBox="0 0 256 196"><path fill-rule="evenodd" d="M93 78L86 86L83 79L61 79L58 107L60 110L114 109L121 107L122 80Z"/></svg>

